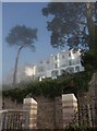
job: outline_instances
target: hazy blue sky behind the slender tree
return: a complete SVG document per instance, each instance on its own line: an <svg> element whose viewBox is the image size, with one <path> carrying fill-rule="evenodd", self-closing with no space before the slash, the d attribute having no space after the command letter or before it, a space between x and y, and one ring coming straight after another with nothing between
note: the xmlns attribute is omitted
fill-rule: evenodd
<svg viewBox="0 0 97 131"><path fill-rule="evenodd" d="M47 2L3 2L2 3L2 74L3 79L9 76L14 69L17 47L10 47L5 37L10 29L15 25L26 25L27 27L37 28L37 41L35 43L36 51L23 49L19 60L19 68L29 63L33 64L43 60L49 55L59 51L50 45L50 32L47 31L47 20L41 9ZM49 17L51 19L51 17Z"/></svg>

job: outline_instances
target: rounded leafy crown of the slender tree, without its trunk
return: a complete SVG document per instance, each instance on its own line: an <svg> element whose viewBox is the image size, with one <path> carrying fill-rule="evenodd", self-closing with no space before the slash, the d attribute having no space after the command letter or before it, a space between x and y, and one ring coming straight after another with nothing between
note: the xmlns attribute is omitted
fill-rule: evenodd
<svg viewBox="0 0 97 131"><path fill-rule="evenodd" d="M25 25L16 25L13 27L5 40L10 46L23 46L23 47L34 47L34 43L37 39L37 29L26 27Z"/></svg>

